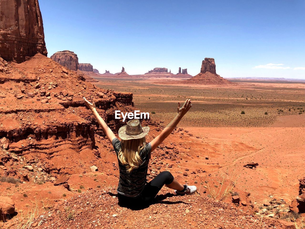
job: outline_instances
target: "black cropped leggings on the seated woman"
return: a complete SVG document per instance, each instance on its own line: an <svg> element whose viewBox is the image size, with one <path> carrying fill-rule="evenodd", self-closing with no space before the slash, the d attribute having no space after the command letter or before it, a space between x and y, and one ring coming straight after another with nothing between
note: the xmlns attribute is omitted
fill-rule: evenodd
<svg viewBox="0 0 305 229"><path fill-rule="evenodd" d="M129 208L141 208L152 203L160 189L164 184L170 184L174 180L174 176L168 172L163 171L159 173L154 179L145 184L143 191L135 196L128 197L118 193L119 204Z"/></svg>

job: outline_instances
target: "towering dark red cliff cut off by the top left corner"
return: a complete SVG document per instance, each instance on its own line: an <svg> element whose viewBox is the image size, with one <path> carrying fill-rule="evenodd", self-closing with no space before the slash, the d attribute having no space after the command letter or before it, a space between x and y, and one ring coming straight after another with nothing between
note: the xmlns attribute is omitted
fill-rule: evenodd
<svg viewBox="0 0 305 229"><path fill-rule="evenodd" d="M0 56L22 63L37 53L47 56L38 0L0 1Z"/></svg>

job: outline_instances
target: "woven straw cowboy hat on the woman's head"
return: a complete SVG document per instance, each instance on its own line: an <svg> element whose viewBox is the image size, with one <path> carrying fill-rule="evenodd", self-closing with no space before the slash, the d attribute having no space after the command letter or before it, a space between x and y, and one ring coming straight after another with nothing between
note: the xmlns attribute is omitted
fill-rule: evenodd
<svg viewBox="0 0 305 229"><path fill-rule="evenodd" d="M119 137L122 140L140 139L148 134L148 131L149 126L142 127L139 119L133 119L119 129Z"/></svg>

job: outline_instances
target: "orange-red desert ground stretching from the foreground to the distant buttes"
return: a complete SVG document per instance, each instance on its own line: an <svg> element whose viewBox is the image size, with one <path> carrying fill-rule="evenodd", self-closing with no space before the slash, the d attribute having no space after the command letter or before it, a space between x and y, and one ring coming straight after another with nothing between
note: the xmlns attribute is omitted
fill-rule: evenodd
<svg viewBox="0 0 305 229"><path fill-rule="evenodd" d="M151 126L148 141L174 117L178 101L192 100L193 107L177 130L152 153L149 179L168 170L181 183L196 185L198 196L173 197L173 192L164 187L156 204L138 212L150 221L136 217L138 213L117 204L117 158L105 138L95 136L99 157L89 153L88 149L80 151L76 161L74 155L65 149L49 156L40 154L40 159L46 157L54 163L55 169L62 171L57 179L62 175L70 177L71 191L51 182L38 184L34 181L19 184L17 188L15 184L0 183L0 191L14 199L20 217L33 208L39 209L39 214L44 212L46 215L39 218L35 213L35 225L43 221L45 228L135 228L139 225L160 228L168 224L169 219L175 222L170 228L175 228L176 224L184 228L291 226L291 222L282 220L278 224L278 221L264 216L272 218L276 212L279 217L285 217L289 209L296 207L298 179L305 174L305 84L239 82L226 86L190 86L179 83L179 79L167 78L99 80L95 86L103 90L133 93L134 107L150 113L152 122L147 122ZM245 114L241 114L242 111ZM84 112L85 117L89 115L81 107L69 108L68 112L78 115ZM49 115L50 120L56 119L55 113ZM64 119L62 116L57 118ZM18 144L22 141L13 147L17 148ZM33 154L25 155L27 157L33 158ZM244 167L250 162L258 165ZM37 161L31 163L36 165ZM34 170L38 165L40 163ZM89 172L91 165L96 165L98 171ZM34 177L35 173L30 175ZM222 202L217 198L213 202L207 189L223 192L232 184L231 193L239 195L243 204L234 205L231 194ZM266 211L266 206L263 207L266 202L273 203L274 209L267 207ZM182 213L179 213L179 208ZM253 209L262 208L264 214L253 215ZM174 215L170 209L174 210ZM221 209L229 210L220 213ZM215 214L211 218L210 211ZM131 219L134 220L127 225ZM16 222L15 218L5 227L16 225Z"/></svg>

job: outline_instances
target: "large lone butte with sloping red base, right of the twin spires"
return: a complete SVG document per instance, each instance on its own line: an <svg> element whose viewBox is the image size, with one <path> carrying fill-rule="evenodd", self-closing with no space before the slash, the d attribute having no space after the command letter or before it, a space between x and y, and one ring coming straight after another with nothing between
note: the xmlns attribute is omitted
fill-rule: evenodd
<svg viewBox="0 0 305 229"><path fill-rule="evenodd" d="M204 58L198 75L184 81L187 84L234 84L216 73L214 58Z"/></svg>

